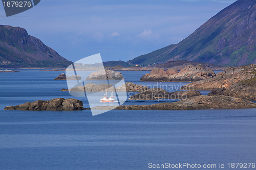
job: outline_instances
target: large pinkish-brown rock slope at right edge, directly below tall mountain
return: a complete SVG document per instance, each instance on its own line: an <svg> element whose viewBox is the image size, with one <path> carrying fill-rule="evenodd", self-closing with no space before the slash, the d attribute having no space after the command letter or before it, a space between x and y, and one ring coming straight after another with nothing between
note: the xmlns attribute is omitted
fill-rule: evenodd
<svg viewBox="0 0 256 170"><path fill-rule="evenodd" d="M256 78L256 65L250 64L239 66L236 68L227 68L223 72L219 72L216 77L189 83L182 90L212 90L216 88L228 87L239 81Z"/></svg>

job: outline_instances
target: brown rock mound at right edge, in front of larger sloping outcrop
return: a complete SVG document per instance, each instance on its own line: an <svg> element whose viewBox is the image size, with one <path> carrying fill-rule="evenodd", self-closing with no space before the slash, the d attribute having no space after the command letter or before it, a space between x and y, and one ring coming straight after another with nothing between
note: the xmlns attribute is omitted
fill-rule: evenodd
<svg viewBox="0 0 256 170"><path fill-rule="evenodd" d="M250 101L256 101L256 79L239 81L228 87L212 90L208 95L227 95Z"/></svg>

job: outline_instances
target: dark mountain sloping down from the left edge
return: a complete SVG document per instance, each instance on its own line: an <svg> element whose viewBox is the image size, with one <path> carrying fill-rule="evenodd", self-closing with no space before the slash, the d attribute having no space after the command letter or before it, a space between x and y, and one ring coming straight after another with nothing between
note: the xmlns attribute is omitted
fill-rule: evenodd
<svg viewBox="0 0 256 170"><path fill-rule="evenodd" d="M71 63L25 29L0 25L0 68L60 68Z"/></svg>

